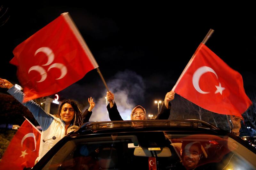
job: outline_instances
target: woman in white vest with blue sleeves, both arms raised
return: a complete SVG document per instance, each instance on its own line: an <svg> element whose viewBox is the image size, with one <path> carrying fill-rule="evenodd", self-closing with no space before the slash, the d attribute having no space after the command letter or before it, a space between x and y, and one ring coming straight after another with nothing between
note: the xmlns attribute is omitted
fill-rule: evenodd
<svg viewBox="0 0 256 170"><path fill-rule="evenodd" d="M90 107L89 109L86 109L82 116L81 110L75 101L64 100L60 105L57 115L51 115L46 113L44 109L33 100L23 103L22 101L25 94L15 88L12 83L6 79L0 78L0 87L8 88L9 90L7 92L21 104L26 106L42 127L38 160L40 160L45 153L47 153L68 132L82 125L83 117L84 120L88 121L89 117L92 115L92 108L95 106L93 99L88 99Z"/></svg>

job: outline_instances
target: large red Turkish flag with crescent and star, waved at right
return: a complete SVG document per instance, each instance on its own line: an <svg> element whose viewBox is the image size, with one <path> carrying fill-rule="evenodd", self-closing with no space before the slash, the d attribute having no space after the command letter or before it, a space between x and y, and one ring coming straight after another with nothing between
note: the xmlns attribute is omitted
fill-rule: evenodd
<svg viewBox="0 0 256 170"><path fill-rule="evenodd" d="M243 78L204 44L200 44L173 90L196 105L223 115L242 117L252 101Z"/></svg>

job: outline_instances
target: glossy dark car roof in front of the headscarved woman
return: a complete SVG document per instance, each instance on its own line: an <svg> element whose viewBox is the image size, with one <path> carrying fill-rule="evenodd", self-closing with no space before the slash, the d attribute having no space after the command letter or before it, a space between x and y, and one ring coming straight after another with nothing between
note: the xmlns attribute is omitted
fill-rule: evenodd
<svg viewBox="0 0 256 170"><path fill-rule="evenodd" d="M133 131L134 129L193 129L213 132L220 129L214 125L197 119L189 120L133 120L133 121L107 121L107 122L87 122L84 123L74 133L102 133L103 131Z"/></svg>

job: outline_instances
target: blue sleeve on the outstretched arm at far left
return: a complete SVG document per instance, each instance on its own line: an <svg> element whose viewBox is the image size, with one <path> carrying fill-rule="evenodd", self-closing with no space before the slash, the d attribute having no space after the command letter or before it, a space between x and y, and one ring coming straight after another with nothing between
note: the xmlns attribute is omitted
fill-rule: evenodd
<svg viewBox="0 0 256 170"><path fill-rule="evenodd" d="M28 110L33 114L38 124L41 126L43 130L49 128L53 121L53 117L48 115L42 107L40 107L33 100L29 100L26 103L23 103L24 93L21 92L16 87L12 86L8 91L16 100L18 100L22 105L26 106Z"/></svg>

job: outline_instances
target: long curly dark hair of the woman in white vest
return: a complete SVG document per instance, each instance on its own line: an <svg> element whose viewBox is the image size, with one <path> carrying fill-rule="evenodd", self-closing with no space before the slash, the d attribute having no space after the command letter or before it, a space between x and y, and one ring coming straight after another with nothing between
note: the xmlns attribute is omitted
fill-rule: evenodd
<svg viewBox="0 0 256 170"><path fill-rule="evenodd" d="M61 109L62 109L62 106L65 104L65 103L68 103L70 104L73 109L74 109L74 112L75 112L75 116L72 120L72 123L73 125L76 125L76 126L80 126L83 124L83 116L82 116L82 112L81 110L79 109L77 103L74 101L74 100L71 100L71 99L68 99L68 100L64 100L61 105L60 105L60 108L58 110L58 113L57 113L57 116L60 118L60 113L61 113Z"/></svg>

